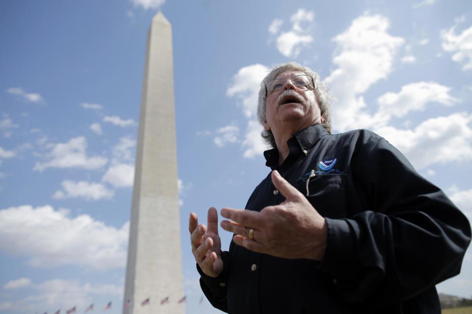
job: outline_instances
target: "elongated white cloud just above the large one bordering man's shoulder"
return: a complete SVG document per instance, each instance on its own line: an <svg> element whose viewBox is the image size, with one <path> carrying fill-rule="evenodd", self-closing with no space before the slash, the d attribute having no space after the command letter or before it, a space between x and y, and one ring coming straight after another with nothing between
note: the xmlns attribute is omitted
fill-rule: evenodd
<svg viewBox="0 0 472 314"><path fill-rule="evenodd" d="M410 111L422 111L428 103L454 105L460 100L449 95L450 89L436 82L404 85L399 93L388 92L377 99L379 111L376 120L387 122L392 116L403 117Z"/></svg>

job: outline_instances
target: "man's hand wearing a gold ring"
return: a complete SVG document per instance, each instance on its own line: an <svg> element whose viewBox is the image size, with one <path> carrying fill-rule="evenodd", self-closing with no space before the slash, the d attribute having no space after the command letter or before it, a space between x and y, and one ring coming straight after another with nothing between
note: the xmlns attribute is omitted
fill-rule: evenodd
<svg viewBox="0 0 472 314"><path fill-rule="evenodd" d="M235 243L251 251L287 259L323 260L327 236L324 218L277 171L272 171L271 177L285 202L260 212L221 209L223 217L233 220L223 220L221 227L235 233Z"/></svg>

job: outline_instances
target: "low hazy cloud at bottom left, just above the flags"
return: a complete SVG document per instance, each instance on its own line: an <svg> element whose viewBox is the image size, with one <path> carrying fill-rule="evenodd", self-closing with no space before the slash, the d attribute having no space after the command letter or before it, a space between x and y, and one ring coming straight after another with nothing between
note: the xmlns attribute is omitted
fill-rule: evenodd
<svg viewBox="0 0 472 314"><path fill-rule="evenodd" d="M31 283L22 288L29 288L33 294L14 302L3 302L0 310L33 313L38 309L50 309L53 313L58 308L69 309L71 300L77 308L86 308L90 300L96 295L110 296L111 298L122 296L123 286L114 284L81 284L77 280L52 279L40 284ZM25 292L22 292L24 294ZM26 292L28 293L28 292Z"/></svg>

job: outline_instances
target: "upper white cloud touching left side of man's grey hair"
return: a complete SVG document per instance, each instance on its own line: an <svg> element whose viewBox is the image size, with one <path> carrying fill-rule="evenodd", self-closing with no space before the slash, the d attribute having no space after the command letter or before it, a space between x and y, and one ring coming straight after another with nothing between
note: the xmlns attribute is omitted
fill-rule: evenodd
<svg viewBox="0 0 472 314"><path fill-rule="evenodd" d="M233 82L226 90L228 96L241 100L246 118L256 116L260 84L269 71L269 68L259 63L242 67L233 76Z"/></svg>

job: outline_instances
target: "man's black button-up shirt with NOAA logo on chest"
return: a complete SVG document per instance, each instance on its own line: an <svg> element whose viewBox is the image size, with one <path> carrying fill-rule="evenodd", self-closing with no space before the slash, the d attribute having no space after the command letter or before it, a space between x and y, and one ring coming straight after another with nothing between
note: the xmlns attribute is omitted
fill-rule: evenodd
<svg viewBox="0 0 472 314"><path fill-rule="evenodd" d="M218 278L198 269L210 303L230 314L441 313L435 285L460 272L471 240L459 209L373 132L330 135L317 125L288 145L282 165L276 149L265 152L266 165L326 219L324 260L277 258L232 241ZM268 175L246 209L283 201Z"/></svg>

